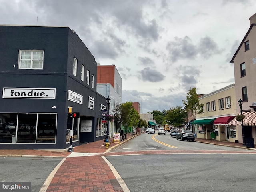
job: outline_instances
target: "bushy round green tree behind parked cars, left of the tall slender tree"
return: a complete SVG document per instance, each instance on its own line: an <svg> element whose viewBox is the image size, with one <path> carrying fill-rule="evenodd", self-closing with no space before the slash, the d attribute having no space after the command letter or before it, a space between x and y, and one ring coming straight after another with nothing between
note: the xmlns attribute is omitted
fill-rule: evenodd
<svg viewBox="0 0 256 192"><path fill-rule="evenodd" d="M182 106L176 106L170 108L170 110L166 111L167 114L165 116L165 120L169 123L174 125L175 127L181 128L187 117L187 112L182 108Z"/></svg>

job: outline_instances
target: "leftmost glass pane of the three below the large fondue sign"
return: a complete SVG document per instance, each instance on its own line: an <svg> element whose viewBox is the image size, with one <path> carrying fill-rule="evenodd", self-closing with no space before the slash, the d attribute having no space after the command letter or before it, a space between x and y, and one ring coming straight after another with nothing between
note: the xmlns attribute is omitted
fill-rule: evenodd
<svg viewBox="0 0 256 192"><path fill-rule="evenodd" d="M17 113L0 114L0 143L15 143Z"/></svg>

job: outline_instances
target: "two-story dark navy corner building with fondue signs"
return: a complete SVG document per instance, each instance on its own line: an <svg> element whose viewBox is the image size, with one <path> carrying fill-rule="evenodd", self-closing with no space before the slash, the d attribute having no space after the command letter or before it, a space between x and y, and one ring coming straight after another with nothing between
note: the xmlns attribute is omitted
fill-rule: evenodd
<svg viewBox="0 0 256 192"><path fill-rule="evenodd" d="M0 44L2 149L64 149L70 135L73 146L106 136L97 63L74 30L1 25Z"/></svg>

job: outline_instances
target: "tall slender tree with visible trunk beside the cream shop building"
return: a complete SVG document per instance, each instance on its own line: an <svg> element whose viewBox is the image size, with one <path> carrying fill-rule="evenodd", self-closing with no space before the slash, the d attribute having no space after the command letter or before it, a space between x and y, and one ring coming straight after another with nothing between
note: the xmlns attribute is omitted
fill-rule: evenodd
<svg viewBox="0 0 256 192"><path fill-rule="evenodd" d="M200 103L199 103L199 98L198 98L198 94L196 93L196 88L190 88L190 90L188 90L187 92L187 96L185 100L182 100L183 104L186 106L186 111L192 112L192 116L193 116L193 132L195 132L195 128L194 128L194 119L195 119L195 115L196 115L196 109L198 107L200 107Z"/></svg>

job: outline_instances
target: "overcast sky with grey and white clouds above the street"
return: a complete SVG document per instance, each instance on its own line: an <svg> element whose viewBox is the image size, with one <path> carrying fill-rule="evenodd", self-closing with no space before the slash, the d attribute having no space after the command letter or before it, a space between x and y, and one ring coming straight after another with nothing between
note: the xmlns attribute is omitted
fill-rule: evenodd
<svg viewBox="0 0 256 192"><path fill-rule="evenodd" d="M69 26L143 113L234 83L229 62L254 13L255 0L0 0L0 24Z"/></svg>

